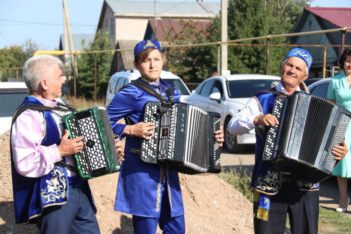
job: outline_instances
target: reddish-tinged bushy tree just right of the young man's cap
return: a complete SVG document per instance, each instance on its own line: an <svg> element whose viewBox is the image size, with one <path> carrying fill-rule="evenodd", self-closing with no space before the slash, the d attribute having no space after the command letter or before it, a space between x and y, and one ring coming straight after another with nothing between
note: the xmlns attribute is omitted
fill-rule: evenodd
<svg viewBox="0 0 351 234"><path fill-rule="evenodd" d="M168 44L197 44L208 42L207 34L200 30L193 19L179 20L182 30L176 34L167 28L165 41ZM186 82L201 82L216 69L216 63L209 53L216 46L170 47L167 53L169 71Z"/></svg>

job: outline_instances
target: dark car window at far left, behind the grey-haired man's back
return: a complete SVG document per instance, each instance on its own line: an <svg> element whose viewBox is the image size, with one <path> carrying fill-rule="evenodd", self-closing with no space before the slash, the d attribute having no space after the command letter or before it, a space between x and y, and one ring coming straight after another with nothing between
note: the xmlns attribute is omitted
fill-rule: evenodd
<svg viewBox="0 0 351 234"><path fill-rule="evenodd" d="M11 93L1 92L0 117L12 117L26 96L28 96L28 91L12 91Z"/></svg>

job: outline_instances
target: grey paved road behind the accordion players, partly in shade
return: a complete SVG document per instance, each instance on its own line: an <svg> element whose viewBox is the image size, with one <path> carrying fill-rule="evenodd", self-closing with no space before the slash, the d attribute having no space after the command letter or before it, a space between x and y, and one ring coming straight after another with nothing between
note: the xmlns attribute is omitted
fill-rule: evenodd
<svg viewBox="0 0 351 234"><path fill-rule="evenodd" d="M254 146L247 146L243 154L229 154L223 150L221 154L221 165L224 170L245 170L252 172L254 167ZM351 197L351 185L348 187L348 194ZM335 210L339 203L339 189L337 186L336 176L332 176L320 183L319 203L322 207L330 210ZM351 217L351 206L346 213Z"/></svg>

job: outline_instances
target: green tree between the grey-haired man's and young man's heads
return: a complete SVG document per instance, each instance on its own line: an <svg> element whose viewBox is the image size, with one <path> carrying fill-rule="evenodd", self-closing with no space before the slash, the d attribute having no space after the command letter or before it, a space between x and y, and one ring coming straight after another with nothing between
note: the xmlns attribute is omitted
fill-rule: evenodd
<svg viewBox="0 0 351 234"><path fill-rule="evenodd" d="M100 51L111 50L114 44L106 33L97 33L99 35L88 46L82 42L83 51ZM82 54L77 59L78 78L77 78L77 95L85 98L94 97L94 57L97 56L97 96L105 96L101 92L103 85L108 82L110 75L110 66L113 58L111 52ZM72 92L73 93L73 92Z"/></svg>

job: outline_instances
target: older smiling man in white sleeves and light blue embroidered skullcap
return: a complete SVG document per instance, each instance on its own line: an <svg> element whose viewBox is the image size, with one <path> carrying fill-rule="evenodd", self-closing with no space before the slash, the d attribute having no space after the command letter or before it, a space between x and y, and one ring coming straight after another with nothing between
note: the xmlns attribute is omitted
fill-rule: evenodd
<svg viewBox="0 0 351 234"><path fill-rule="evenodd" d="M274 170L262 161L268 126L279 124L272 115L275 97L295 91L308 92L302 81L308 78L312 56L303 49L292 49L280 65L280 82L268 91L258 92L228 124L232 134L255 128L256 150L251 187L254 190L255 234L283 234L289 214L292 234L317 234L319 183L312 184L290 173ZM347 153L345 142L333 148L340 160Z"/></svg>

